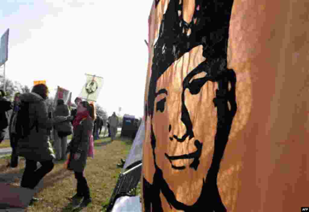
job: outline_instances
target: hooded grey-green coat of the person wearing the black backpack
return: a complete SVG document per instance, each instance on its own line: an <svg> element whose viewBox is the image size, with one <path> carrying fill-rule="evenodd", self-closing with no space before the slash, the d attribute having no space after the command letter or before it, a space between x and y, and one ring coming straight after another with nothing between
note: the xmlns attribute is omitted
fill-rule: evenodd
<svg viewBox="0 0 309 212"><path fill-rule="evenodd" d="M53 147L49 142L47 130L57 124L55 118L49 118L47 105L44 99L36 93L20 95L21 101L29 102L29 127L36 120L36 126L30 131L27 138L21 139L17 144L17 154L33 161L49 161L55 158Z"/></svg>

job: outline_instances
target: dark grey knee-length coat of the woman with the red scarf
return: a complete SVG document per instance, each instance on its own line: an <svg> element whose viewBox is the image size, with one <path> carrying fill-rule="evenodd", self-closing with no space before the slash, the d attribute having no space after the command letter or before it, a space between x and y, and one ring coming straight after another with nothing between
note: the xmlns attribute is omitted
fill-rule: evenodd
<svg viewBox="0 0 309 212"><path fill-rule="evenodd" d="M92 134L93 120L88 117L80 122L74 129L74 137L70 143L70 158L68 169L74 172L83 172L86 167L86 161L89 151L89 137ZM81 153L78 160L74 159L75 153Z"/></svg>

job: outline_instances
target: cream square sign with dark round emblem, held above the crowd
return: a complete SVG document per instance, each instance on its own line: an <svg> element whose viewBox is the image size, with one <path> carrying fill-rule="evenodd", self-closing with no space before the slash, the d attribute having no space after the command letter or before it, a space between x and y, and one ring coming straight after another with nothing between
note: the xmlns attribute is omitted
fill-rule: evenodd
<svg viewBox="0 0 309 212"><path fill-rule="evenodd" d="M86 74L86 83L83 85L79 97L87 101L96 102L103 85L103 78Z"/></svg>

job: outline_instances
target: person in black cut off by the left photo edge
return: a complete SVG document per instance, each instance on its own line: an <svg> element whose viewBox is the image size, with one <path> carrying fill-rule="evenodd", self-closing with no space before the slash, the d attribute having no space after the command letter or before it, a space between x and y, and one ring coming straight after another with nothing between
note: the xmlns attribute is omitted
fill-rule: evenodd
<svg viewBox="0 0 309 212"><path fill-rule="evenodd" d="M4 140L5 128L9 125L6 112L12 109L11 102L6 100L5 96L6 92L0 90L0 143Z"/></svg>

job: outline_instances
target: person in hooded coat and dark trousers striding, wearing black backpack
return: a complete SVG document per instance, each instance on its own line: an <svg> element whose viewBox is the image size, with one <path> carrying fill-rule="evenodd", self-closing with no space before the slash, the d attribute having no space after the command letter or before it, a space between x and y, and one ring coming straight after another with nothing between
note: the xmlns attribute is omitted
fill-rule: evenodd
<svg viewBox="0 0 309 212"><path fill-rule="evenodd" d="M21 102L29 103L29 128L35 126L26 138L17 142L17 155L26 159L26 167L20 186L33 190L54 167L55 153L49 142L48 129L51 129L54 124L72 119L65 116L48 117L44 101L48 98L48 94L49 90L45 84L37 84L31 92L24 93L19 97ZM39 169L37 169L37 162L42 165ZM38 201L38 199L32 198L31 203L34 201Z"/></svg>

